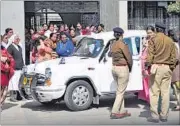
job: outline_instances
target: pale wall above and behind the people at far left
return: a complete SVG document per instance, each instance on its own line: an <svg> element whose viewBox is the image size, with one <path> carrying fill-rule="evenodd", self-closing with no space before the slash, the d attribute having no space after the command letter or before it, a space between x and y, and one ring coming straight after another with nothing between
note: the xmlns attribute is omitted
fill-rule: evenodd
<svg viewBox="0 0 180 126"><path fill-rule="evenodd" d="M1 1L1 34L10 27L19 34L25 57L24 1Z"/></svg>

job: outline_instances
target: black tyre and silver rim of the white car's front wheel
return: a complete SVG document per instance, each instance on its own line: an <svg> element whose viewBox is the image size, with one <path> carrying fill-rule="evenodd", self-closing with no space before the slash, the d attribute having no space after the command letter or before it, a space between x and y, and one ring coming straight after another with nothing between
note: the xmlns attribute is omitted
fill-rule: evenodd
<svg viewBox="0 0 180 126"><path fill-rule="evenodd" d="M67 87L64 101L70 110L82 111L88 109L93 101L93 89L86 81L74 81Z"/></svg>

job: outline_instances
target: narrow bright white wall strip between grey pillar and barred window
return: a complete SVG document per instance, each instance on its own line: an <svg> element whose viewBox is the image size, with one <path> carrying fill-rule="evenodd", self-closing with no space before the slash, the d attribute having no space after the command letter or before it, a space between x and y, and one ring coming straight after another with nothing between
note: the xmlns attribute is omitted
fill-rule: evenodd
<svg viewBox="0 0 180 126"><path fill-rule="evenodd" d="M119 27L128 30L128 1L119 1Z"/></svg>

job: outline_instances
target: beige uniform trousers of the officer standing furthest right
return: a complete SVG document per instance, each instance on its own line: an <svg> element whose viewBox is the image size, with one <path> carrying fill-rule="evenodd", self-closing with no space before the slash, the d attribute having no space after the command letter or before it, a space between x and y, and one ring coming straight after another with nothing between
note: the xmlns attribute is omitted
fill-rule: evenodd
<svg viewBox="0 0 180 126"><path fill-rule="evenodd" d="M159 65L156 73L150 77L150 110L153 118L159 119L158 100L161 95L160 117L167 119L170 102L172 71L168 65Z"/></svg>

